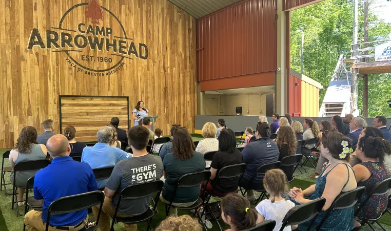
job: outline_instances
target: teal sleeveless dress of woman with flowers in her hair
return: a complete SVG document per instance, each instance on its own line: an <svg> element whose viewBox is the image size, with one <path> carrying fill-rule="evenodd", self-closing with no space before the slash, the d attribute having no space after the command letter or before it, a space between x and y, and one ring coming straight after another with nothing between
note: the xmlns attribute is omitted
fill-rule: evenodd
<svg viewBox="0 0 391 231"><path fill-rule="evenodd" d="M342 164L345 164L345 163L342 163ZM346 168L350 167L347 164L345 164L345 165L346 165ZM336 167L336 166L334 166L334 167ZM333 167L333 169L331 169L330 172L328 172L324 176L322 176L323 172L326 171L327 167L325 167L325 169L322 171L322 173L319 175L318 179L316 180L315 191L314 191L314 193L312 193L308 197L309 200L314 200L314 199L322 197L324 187L326 186L327 175L331 171L333 171L333 169L334 169L334 167ZM343 186L343 188L347 185L347 183L349 181L349 177L350 177L349 169L347 169L347 170L348 170L347 171L347 181L346 181L345 185ZM295 204L299 205L298 202L296 202L296 201L293 201L293 202ZM326 216L326 212L327 211L322 211L319 213L318 217L316 218L314 223L312 223L312 226L309 230L316 230L319 223L322 221L324 216ZM330 231L330 230L333 230L333 231L345 231L346 230L346 231L348 231L348 230L351 230L354 227L353 216L354 216L354 206L351 206L349 208L343 208L343 209L335 209L334 211L331 211L328 218L324 221L324 223L322 224L322 227L319 230L325 230L325 231ZM311 220L304 222L302 224L299 224L299 227L297 228L297 230L307 230L308 225L310 223L311 223Z"/></svg>

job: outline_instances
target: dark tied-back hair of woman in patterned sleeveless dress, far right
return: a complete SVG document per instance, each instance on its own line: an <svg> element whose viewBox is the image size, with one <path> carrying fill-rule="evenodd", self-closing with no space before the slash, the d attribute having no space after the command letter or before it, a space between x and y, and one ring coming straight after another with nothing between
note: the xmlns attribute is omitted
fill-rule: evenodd
<svg viewBox="0 0 391 231"><path fill-rule="evenodd" d="M364 155L369 158L378 158L384 163L383 139L380 137L363 136L359 139L357 146L362 149Z"/></svg>

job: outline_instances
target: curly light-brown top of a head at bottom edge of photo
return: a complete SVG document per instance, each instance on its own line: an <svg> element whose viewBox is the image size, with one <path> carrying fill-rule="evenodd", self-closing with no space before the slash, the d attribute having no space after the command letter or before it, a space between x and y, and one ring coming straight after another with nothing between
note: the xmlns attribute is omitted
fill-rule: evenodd
<svg viewBox="0 0 391 231"><path fill-rule="evenodd" d="M196 218L189 215L167 217L155 231L202 231L202 226Z"/></svg>

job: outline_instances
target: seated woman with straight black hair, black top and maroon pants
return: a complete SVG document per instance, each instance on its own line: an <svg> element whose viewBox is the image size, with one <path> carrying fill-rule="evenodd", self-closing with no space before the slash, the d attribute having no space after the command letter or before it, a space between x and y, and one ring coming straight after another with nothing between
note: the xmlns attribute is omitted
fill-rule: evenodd
<svg viewBox="0 0 391 231"><path fill-rule="evenodd" d="M212 187L216 183L216 178L220 170L229 165L240 164L243 161L242 153L236 149L235 133L231 129L224 129L220 133L219 152L214 154L212 163L210 164L210 181L201 185L200 198L203 188L207 193L212 192ZM224 197L227 193L236 192L238 190L238 180L231 178L221 178L218 184L214 187L213 195Z"/></svg>

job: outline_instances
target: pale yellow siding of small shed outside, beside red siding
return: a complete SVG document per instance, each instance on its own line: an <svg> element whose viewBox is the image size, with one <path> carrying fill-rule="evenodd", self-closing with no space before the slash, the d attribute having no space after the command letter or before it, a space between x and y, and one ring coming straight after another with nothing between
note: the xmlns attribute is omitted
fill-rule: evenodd
<svg viewBox="0 0 391 231"><path fill-rule="evenodd" d="M301 117L317 117L319 113L319 88L301 81Z"/></svg>

